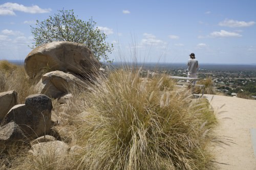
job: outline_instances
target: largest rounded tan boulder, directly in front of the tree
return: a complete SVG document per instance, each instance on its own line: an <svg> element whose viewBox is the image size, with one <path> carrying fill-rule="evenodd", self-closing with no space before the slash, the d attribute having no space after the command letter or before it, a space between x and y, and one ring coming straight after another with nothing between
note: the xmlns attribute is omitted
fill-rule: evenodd
<svg viewBox="0 0 256 170"><path fill-rule="evenodd" d="M84 44L55 41L34 48L25 58L25 70L30 78L42 69L71 71L78 75L98 72L100 62Z"/></svg>

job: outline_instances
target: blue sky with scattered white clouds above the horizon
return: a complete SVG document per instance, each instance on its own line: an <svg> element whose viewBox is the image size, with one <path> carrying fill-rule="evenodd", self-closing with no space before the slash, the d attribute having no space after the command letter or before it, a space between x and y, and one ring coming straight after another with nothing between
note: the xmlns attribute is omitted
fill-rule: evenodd
<svg viewBox="0 0 256 170"><path fill-rule="evenodd" d="M31 48L30 26L57 10L91 17L113 43L115 61L256 63L256 1L2 1L0 59L24 60Z"/></svg>

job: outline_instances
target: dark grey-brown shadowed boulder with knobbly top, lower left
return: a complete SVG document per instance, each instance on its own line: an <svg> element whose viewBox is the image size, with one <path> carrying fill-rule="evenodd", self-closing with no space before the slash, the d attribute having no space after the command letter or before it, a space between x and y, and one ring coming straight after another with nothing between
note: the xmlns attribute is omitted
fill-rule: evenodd
<svg viewBox="0 0 256 170"><path fill-rule="evenodd" d="M52 101L47 95L29 95L25 104L11 108L3 120L3 125L15 122L26 136L37 138L50 131L52 108Z"/></svg>

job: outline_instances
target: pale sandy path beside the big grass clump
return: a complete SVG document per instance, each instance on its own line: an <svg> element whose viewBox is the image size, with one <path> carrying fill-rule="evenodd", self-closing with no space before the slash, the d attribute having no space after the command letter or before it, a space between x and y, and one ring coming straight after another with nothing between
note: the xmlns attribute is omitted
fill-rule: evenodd
<svg viewBox="0 0 256 170"><path fill-rule="evenodd" d="M205 97L219 122L215 132L229 144L213 147L216 161L220 162L218 169L256 170L250 133L251 129L256 129L256 100L209 94Z"/></svg>

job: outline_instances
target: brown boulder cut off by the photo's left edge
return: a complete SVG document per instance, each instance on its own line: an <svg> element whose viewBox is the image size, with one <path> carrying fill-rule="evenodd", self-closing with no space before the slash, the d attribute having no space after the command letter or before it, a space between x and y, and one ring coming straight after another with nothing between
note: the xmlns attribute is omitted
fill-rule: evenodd
<svg viewBox="0 0 256 170"><path fill-rule="evenodd" d="M17 93L14 90L0 93L0 123L14 105L17 105Z"/></svg>

